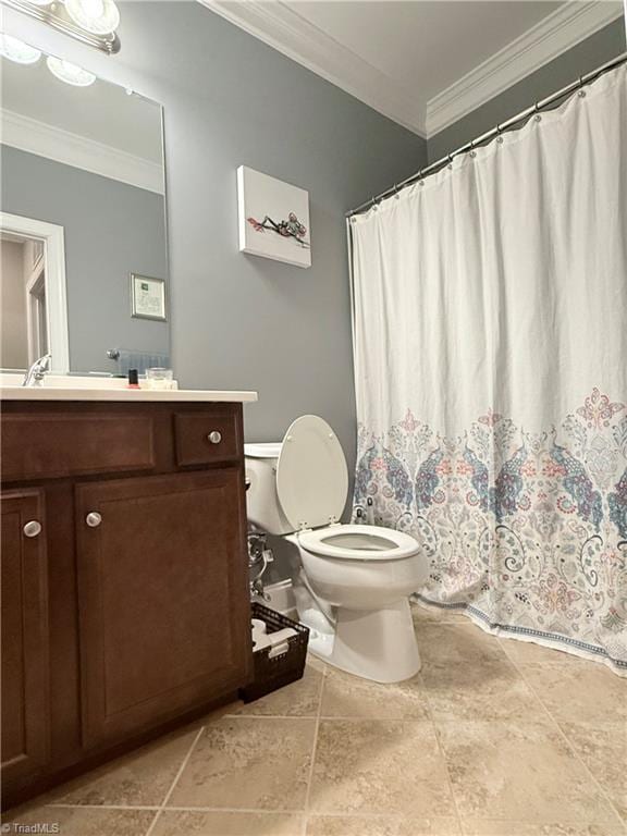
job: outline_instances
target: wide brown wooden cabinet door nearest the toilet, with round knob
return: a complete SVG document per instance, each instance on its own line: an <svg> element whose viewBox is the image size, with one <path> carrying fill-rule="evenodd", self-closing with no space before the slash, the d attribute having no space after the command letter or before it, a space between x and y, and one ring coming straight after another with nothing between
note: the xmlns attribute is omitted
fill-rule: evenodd
<svg viewBox="0 0 627 836"><path fill-rule="evenodd" d="M241 469L76 493L84 742L142 730L246 681Z"/></svg>

